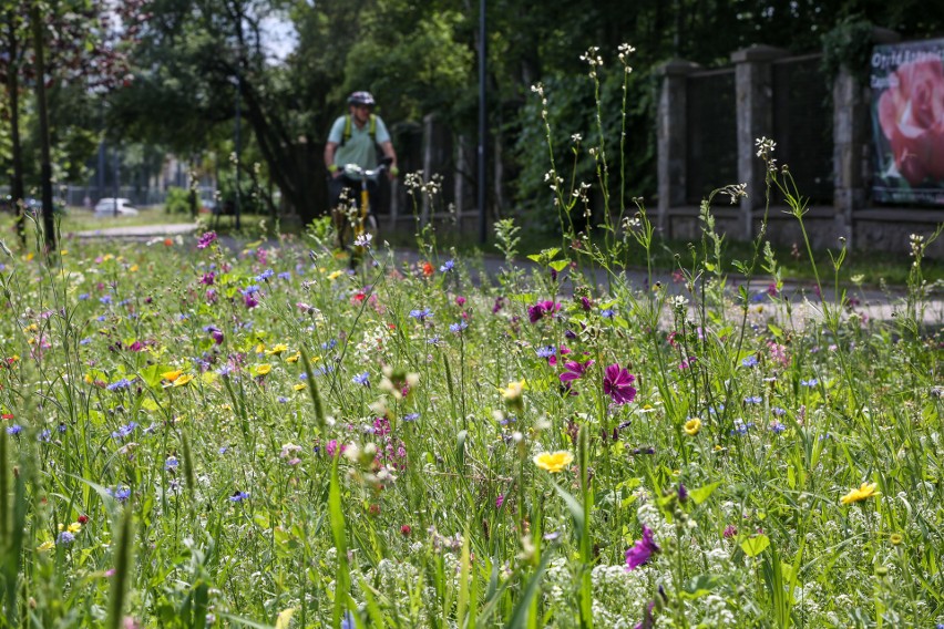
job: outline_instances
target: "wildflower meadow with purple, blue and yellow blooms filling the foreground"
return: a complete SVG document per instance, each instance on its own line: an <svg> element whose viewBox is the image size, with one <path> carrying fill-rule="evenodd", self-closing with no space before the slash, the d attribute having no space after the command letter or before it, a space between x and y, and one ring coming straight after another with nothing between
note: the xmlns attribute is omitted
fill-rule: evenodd
<svg viewBox="0 0 944 629"><path fill-rule="evenodd" d="M601 244L548 179L561 246L500 221L493 275L429 227L419 262L363 241L351 269L330 220L4 246L0 625L944 623L934 235L894 318L842 245L800 316L763 230L726 258L715 195L634 283L642 202Z"/></svg>

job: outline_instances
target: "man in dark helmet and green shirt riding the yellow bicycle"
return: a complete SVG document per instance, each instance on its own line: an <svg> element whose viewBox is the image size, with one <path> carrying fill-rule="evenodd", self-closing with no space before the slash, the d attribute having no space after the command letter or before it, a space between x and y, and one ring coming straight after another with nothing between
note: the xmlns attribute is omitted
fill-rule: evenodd
<svg viewBox="0 0 944 629"><path fill-rule="evenodd" d="M370 92L353 92L348 96L348 114L340 116L331 125L328 142L325 144L325 166L328 168L328 196L331 212L338 207L345 188L357 189L360 184L345 176L345 166L356 164L366 171L377 168L377 147L383 153L390 165L387 176L391 181L398 175L397 153L390 141L390 133L380 116L373 114L373 96ZM378 184L376 178L368 182L370 207L376 206Z"/></svg>

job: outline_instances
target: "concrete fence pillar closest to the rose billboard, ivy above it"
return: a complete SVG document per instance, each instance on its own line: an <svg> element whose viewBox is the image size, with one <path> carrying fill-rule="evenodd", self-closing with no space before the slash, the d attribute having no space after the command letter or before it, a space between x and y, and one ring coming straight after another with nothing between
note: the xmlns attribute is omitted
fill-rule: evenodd
<svg viewBox="0 0 944 629"><path fill-rule="evenodd" d="M873 43L895 43L901 37L887 29L872 30ZM833 207L837 233L853 247L852 213L869 200L872 169L872 93L845 64L832 87Z"/></svg>

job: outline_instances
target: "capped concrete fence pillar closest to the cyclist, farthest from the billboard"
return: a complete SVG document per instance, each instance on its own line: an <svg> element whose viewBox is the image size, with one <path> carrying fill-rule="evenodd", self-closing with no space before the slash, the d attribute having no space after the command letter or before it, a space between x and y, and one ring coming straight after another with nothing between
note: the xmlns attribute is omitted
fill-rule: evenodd
<svg viewBox="0 0 944 629"><path fill-rule="evenodd" d="M663 234L668 230L668 210L685 205L686 140L688 137L687 76L698 70L698 64L675 59L658 69L661 78L659 105L656 114L658 217Z"/></svg>

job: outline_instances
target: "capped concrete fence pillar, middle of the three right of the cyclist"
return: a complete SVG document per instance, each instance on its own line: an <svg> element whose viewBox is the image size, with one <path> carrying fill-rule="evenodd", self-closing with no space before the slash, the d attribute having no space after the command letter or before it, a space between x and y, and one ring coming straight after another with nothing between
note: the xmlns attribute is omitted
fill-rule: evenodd
<svg viewBox="0 0 944 629"><path fill-rule="evenodd" d="M773 137L773 71L776 59L787 51L770 45L752 45L731 54L735 63L735 93L738 121L738 178L747 184L741 198L741 237L753 237L753 210L765 205L766 164L757 157L756 141ZM774 156L777 153L774 152Z"/></svg>

